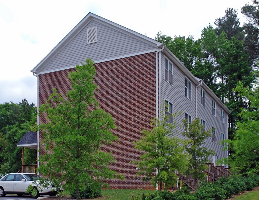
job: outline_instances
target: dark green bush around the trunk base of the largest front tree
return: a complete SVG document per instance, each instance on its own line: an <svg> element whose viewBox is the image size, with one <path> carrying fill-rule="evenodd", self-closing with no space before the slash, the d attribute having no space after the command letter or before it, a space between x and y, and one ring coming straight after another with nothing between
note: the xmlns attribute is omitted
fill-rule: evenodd
<svg viewBox="0 0 259 200"><path fill-rule="evenodd" d="M72 199L76 199L76 190L70 191L69 195ZM94 182L91 186L86 186L84 189L79 190L80 199L96 198L101 196L101 185L98 182Z"/></svg>

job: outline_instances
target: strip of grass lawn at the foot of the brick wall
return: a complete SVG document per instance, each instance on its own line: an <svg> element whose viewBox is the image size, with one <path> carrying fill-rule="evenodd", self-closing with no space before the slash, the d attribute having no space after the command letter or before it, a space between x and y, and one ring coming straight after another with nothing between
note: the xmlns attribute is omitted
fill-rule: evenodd
<svg viewBox="0 0 259 200"><path fill-rule="evenodd" d="M134 195L142 195L142 193L150 194L156 191L154 190L102 190L102 195L105 199L112 199L112 200L131 200L131 197Z"/></svg>

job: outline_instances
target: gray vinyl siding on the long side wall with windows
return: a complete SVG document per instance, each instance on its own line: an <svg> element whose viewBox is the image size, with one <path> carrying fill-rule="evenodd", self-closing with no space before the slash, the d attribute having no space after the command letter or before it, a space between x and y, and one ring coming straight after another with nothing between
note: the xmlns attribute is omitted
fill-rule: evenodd
<svg viewBox="0 0 259 200"><path fill-rule="evenodd" d="M192 82L191 85L191 100L185 96L185 77L186 75L173 63L173 86L164 80L164 55L162 54L162 66L161 66L161 82L160 82L160 104L162 105L163 100L166 99L173 103L173 112L181 112L180 116L175 118L175 121L180 125L183 125L183 119L185 119L185 113L191 115L192 120L195 119L195 88ZM172 62L172 61L171 61ZM188 77L187 77L188 78ZM221 107L216 102L216 116L212 114L212 97L206 92L205 94L205 107L201 105L200 102L200 86L197 88L197 117L205 121L206 130L216 127L216 143L212 142L212 136L209 137L204 144L204 147L213 149L215 153L222 157L228 156L228 151L222 151L222 146L219 144L221 142L221 133L225 134L225 139L228 138L228 113L225 112L225 123L221 122ZM215 99L214 99L215 100ZM177 133L175 136L182 139L182 132L184 127L177 126ZM209 158L213 161L213 157Z"/></svg>

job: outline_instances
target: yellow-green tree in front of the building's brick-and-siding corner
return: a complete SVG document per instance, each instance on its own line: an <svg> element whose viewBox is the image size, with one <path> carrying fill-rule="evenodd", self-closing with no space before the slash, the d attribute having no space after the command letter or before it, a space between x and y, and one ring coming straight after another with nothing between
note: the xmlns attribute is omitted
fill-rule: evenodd
<svg viewBox="0 0 259 200"><path fill-rule="evenodd" d="M151 184L156 187L158 183L160 191L162 183L166 187L176 183L178 176L175 171L185 172L188 166L184 141L175 136L175 114L168 114L168 105L164 109L160 119L152 119L152 130L142 130L143 137L133 142L135 148L142 150L143 154L139 161L132 162L139 169L137 175L145 174L152 178Z"/></svg>

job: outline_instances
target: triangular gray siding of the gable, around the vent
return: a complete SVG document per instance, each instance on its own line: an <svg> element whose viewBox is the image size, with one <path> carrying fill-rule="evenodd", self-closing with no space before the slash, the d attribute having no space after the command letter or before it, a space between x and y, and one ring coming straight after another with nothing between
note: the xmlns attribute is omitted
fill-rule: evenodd
<svg viewBox="0 0 259 200"><path fill-rule="evenodd" d="M87 44L87 29L91 27L97 27L97 42ZM150 50L156 49L105 24L91 20L46 64L41 73L72 67L87 58L98 62Z"/></svg>

